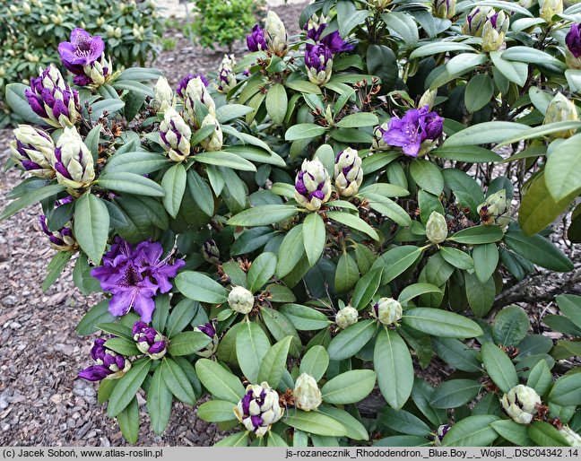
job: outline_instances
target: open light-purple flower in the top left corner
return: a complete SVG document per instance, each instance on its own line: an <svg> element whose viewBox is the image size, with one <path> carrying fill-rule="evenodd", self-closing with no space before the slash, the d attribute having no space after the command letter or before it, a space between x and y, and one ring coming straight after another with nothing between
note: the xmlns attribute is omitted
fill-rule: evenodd
<svg viewBox="0 0 581 461"><path fill-rule="evenodd" d="M91 78L84 74L83 65L91 65L105 51L105 43L99 35L92 37L84 29L76 28L71 32L71 41L63 41L58 44L58 54L66 69L82 79L75 79L75 84L89 84ZM88 79L88 83L86 82ZM78 82L77 82L78 80ZM82 80L82 82L81 82Z"/></svg>

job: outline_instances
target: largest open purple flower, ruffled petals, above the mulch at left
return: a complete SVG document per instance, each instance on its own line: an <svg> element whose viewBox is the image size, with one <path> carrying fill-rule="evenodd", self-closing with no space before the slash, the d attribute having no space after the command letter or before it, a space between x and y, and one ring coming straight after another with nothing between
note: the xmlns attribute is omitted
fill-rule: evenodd
<svg viewBox="0 0 581 461"><path fill-rule="evenodd" d="M178 269L186 265L182 259L168 264L169 257L160 259L162 253L158 242L143 241L134 247L117 236L103 257L103 265L91 270L91 275L100 281L101 289L113 295L108 307L111 314L123 316L133 308L143 322L152 321L153 297L158 291L171 290L169 278L175 277Z"/></svg>

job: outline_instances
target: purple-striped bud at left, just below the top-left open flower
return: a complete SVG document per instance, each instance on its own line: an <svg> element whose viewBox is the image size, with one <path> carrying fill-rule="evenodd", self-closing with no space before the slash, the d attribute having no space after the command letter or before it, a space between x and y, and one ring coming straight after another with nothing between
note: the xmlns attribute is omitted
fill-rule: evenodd
<svg viewBox="0 0 581 461"><path fill-rule="evenodd" d="M40 70L39 77L30 79L30 89L24 91L30 109L49 126L73 126L79 117L79 94L65 82L54 66Z"/></svg>

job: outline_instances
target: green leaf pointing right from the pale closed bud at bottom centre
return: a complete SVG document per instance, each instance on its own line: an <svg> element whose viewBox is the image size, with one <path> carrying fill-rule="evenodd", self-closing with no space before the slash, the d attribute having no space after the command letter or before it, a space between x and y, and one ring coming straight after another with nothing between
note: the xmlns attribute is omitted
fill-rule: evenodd
<svg viewBox="0 0 581 461"><path fill-rule="evenodd" d="M351 370L330 379L321 387L327 404L355 404L369 396L376 382L373 370Z"/></svg>

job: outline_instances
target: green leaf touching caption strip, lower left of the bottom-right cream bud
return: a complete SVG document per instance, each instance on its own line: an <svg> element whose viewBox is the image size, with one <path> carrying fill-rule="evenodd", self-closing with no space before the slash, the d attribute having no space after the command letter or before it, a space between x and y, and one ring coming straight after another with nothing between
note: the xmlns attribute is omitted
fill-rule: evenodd
<svg viewBox="0 0 581 461"><path fill-rule="evenodd" d="M487 447L499 437L490 424L499 421L492 414L468 416L456 422L442 440L443 447Z"/></svg>

